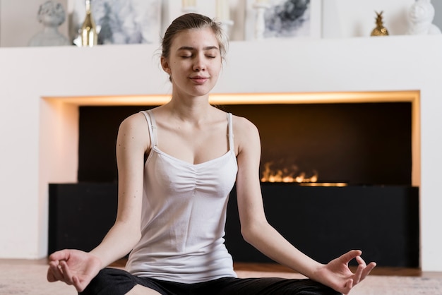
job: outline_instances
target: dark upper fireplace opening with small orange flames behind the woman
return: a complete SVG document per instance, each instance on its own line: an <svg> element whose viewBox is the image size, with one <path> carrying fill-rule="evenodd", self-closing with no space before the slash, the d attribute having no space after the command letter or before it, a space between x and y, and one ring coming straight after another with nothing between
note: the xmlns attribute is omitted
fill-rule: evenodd
<svg viewBox="0 0 442 295"><path fill-rule="evenodd" d="M118 126L126 116L152 107L80 107L78 181L117 181ZM411 102L218 107L258 127L262 181L412 183Z"/></svg>

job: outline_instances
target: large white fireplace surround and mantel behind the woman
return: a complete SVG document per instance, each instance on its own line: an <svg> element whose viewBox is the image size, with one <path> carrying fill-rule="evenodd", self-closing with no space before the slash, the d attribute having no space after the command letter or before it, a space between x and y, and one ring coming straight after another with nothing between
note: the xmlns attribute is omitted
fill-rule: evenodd
<svg viewBox="0 0 442 295"><path fill-rule="evenodd" d="M72 97L169 93L157 48L0 48L0 258L47 255L47 184L77 176ZM442 271L441 72L442 36L232 42L213 92L419 91L421 265Z"/></svg>

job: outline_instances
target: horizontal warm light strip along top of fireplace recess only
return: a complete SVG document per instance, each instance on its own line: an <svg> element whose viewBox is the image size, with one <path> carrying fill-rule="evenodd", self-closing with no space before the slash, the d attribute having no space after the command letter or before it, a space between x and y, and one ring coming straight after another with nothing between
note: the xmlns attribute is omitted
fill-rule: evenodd
<svg viewBox="0 0 442 295"><path fill-rule="evenodd" d="M43 97L81 106L161 105L169 102L170 95L115 95L85 97ZM416 102L418 90L379 92L296 92L213 94L212 104L311 104L352 102Z"/></svg>

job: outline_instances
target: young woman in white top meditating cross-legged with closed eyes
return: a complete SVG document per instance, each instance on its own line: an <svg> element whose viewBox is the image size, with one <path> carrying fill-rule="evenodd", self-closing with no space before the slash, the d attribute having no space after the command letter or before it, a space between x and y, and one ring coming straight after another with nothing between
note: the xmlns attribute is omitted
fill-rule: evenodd
<svg viewBox="0 0 442 295"><path fill-rule="evenodd" d="M90 253L50 255L49 282L73 284L81 294L347 294L375 267L361 251L318 263L268 224L258 130L208 102L225 52L210 18L189 13L172 22L161 56L172 99L119 128L117 220ZM235 182L244 239L310 279L237 278L223 239ZM127 272L106 267L129 252ZM354 258L353 273L347 265Z"/></svg>

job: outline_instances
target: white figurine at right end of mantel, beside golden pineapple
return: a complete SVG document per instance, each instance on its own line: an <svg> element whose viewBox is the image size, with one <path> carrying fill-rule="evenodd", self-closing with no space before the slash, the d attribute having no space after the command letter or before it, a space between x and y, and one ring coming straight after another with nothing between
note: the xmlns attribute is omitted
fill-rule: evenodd
<svg viewBox="0 0 442 295"><path fill-rule="evenodd" d="M408 35L436 35L441 30L434 25L434 7L430 0L416 0L408 13Z"/></svg>

